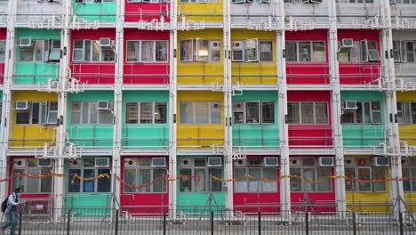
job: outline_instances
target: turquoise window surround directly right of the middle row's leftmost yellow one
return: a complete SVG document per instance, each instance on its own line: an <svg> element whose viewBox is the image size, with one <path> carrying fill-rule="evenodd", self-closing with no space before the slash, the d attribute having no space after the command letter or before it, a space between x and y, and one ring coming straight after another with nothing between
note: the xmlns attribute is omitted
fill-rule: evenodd
<svg viewBox="0 0 416 235"><path fill-rule="evenodd" d="M85 147L107 147L113 145L113 125L71 125L72 101L114 101L114 93L88 91L68 95L68 134L70 142Z"/></svg>

